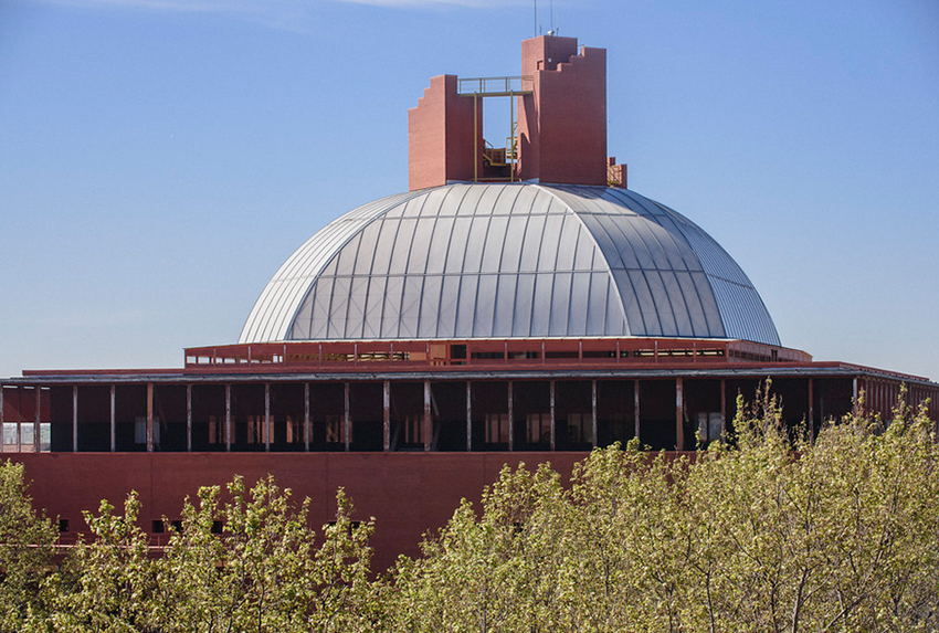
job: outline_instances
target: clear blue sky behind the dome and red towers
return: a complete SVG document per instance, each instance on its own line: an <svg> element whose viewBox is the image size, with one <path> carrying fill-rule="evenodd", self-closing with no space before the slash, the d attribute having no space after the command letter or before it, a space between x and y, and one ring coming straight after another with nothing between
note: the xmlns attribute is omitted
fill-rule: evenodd
<svg viewBox="0 0 939 633"><path fill-rule="evenodd" d="M0 0L0 377L234 342L297 245L407 189L431 76L518 73L532 4ZM939 379L939 3L550 7L608 50L630 187L730 252L784 345Z"/></svg>

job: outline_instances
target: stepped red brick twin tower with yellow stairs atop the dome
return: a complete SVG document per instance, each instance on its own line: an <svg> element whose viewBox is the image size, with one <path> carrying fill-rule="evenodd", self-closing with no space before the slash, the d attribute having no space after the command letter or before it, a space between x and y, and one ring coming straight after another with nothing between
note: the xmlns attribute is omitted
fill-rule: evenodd
<svg viewBox="0 0 939 633"><path fill-rule="evenodd" d="M483 138L487 97L513 102L505 147ZM518 76L433 77L408 113L408 137L412 191L455 181L625 187L624 166L608 169L606 51L578 50L577 38L525 40Z"/></svg>

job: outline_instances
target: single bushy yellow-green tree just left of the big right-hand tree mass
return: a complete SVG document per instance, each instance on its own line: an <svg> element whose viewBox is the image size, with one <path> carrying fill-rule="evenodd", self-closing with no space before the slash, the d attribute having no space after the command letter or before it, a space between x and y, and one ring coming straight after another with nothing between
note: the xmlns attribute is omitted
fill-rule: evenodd
<svg viewBox="0 0 939 633"><path fill-rule="evenodd" d="M337 631L366 630L376 615L369 580L371 521L351 520L352 506L337 494L337 515L316 531L309 499L292 504L291 490L268 476L250 490L241 477L188 500L158 562L161 630Z"/></svg>

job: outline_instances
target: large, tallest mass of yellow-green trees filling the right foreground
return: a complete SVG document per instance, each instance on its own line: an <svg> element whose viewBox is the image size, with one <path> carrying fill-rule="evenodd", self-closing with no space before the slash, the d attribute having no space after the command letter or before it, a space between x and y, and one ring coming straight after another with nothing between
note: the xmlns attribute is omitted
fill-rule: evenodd
<svg viewBox="0 0 939 633"><path fill-rule="evenodd" d="M741 403L742 404L742 403ZM594 451L565 489L504 470L399 561L408 631L935 631L939 450L925 411L815 442L768 395L694 460Z"/></svg>

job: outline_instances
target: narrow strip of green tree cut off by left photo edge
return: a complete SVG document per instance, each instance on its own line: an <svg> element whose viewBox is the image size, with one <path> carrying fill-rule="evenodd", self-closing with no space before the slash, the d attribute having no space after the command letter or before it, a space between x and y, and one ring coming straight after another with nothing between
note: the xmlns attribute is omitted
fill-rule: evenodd
<svg viewBox="0 0 939 633"><path fill-rule="evenodd" d="M52 521L33 511L23 465L0 462L0 631L22 631L44 613L39 585L56 538Z"/></svg>

